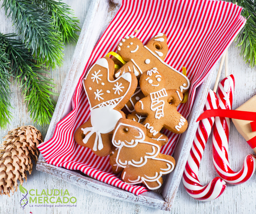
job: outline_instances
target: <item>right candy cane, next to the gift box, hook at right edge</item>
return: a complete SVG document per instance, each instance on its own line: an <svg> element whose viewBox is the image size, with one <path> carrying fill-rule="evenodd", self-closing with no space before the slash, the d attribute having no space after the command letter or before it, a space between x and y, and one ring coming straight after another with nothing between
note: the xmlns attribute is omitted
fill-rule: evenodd
<svg viewBox="0 0 256 214"><path fill-rule="evenodd" d="M233 75L226 77L219 83L217 91L219 109L231 109L234 86L235 79ZM252 177L256 167L256 159L249 154L245 157L240 171L235 172L230 168L228 160L229 127L229 118L215 117L212 135L213 163L219 176L227 183L242 184Z"/></svg>

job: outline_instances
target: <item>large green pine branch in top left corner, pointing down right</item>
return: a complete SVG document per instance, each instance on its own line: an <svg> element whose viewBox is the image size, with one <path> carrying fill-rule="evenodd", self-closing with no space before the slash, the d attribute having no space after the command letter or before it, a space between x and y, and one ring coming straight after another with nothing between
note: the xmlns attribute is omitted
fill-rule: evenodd
<svg viewBox="0 0 256 214"><path fill-rule="evenodd" d="M47 67L60 67L63 60L62 37L53 28L51 15L46 14L41 4L32 0L4 0L2 7L12 18L26 48L33 51L33 56Z"/></svg>

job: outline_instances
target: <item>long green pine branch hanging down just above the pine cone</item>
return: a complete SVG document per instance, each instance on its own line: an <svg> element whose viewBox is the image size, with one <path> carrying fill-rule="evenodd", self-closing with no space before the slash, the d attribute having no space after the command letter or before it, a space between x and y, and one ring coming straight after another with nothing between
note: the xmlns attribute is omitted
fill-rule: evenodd
<svg viewBox="0 0 256 214"><path fill-rule="evenodd" d="M25 97L25 102L30 112L30 117L39 125L49 124L55 101L51 95L56 95L52 79L44 77L47 73L41 69L41 64L33 61L31 52L27 50L21 40L15 39L15 34L0 34L0 40L5 44L5 52L9 55L11 62L10 73L16 78L18 85Z"/></svg>

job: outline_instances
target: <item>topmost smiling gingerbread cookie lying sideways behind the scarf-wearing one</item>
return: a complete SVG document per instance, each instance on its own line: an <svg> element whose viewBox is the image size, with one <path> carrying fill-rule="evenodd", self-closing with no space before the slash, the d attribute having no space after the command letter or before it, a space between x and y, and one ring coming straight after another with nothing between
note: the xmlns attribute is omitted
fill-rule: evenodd
<svg viewBox="0 0 256 214"><path fill-rule="evenodd" d="M143 72L156 67L165 76L167 90L179 89L185 93L190 86L189 80L181 72L164 62L167 52L166 36L162 33L150 39L145 46L138 38L126 36L120 41L117 53L127 63L116 71L115 77L119 77L124 72L132 71L139 78Z"/></svg>

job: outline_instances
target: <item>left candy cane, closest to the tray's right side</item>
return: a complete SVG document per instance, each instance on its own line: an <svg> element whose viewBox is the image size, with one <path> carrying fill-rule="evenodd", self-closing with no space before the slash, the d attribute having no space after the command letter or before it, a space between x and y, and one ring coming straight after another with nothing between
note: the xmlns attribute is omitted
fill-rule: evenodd
<svg viewBox="0 0 256 214"><path fill-rule="evenodd" d="M210 90L207 95L207 101L204 111L209 109L218 109L219 101L217 95ZM226 188L226 183L220 178L214 178L206 186L201 185L198 179L199 164L205 149L205 144L211 133L214 124L214 117L199 121L199 125L191 147L188 161L183 172L182 182L187 193L196 200L211 201L217 199Z"/></svg>

